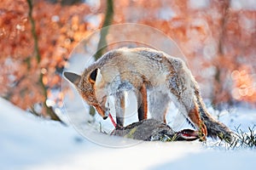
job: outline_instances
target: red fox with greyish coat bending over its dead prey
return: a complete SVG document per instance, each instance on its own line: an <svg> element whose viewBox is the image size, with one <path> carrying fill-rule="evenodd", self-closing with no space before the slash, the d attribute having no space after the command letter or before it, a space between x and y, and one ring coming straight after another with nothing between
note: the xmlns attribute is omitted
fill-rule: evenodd
<svg viewBox="0 0 256 170"><path fill-rule="evenodd" d="M103 54L83 74L64 72L82 98L108 118L108 97L114 97L116 122L124 125L125 90L137 97L139 121L152 118L166 122L170 101L186 119L207 136L230 141L231 131L212 118L201 99L199 87L182 59L151 48L118 48Z"/></svg>

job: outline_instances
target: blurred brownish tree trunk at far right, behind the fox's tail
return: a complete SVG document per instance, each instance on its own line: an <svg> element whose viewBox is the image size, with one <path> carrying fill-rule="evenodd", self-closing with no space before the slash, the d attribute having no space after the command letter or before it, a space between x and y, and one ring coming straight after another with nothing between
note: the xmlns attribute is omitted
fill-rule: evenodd
<svg viewBox="0 0 256 170"><path fill-rule="evenodd" d="M229 17L229 8L230 8L230 0L224 0L221 2L221 13L222 18L220 19L220 31L218 37L218 53L213 62L215 65L215 75L213 82L213 93L212 93L212 105L216 109L220 109L221 102L231 102L231 94L229 89L224 88L224 80L227 74L227 69L224 68L223 65L220 64L222 60L224 60L224 41L226 35L226 22Z"/></svg>

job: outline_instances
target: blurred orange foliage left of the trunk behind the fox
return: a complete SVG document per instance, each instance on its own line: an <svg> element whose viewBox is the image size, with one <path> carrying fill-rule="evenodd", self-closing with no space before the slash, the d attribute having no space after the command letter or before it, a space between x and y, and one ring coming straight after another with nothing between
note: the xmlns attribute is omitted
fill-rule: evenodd
<svg viewBox="0 0 256 170"><path fill-rule="evenodd" d="M61 69L68 55L95 29L84 21L91 13L85 3L73 6L47 1L33 3L40 63L35 57L26 0L0 2L0 93L23 109L44 101L44 92L38 82L40 72L48 94L52 88L61 88Z"/></svg>

